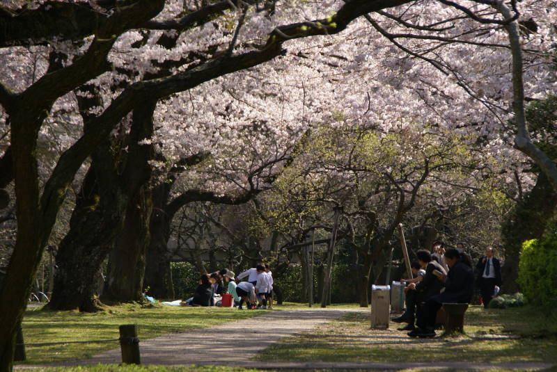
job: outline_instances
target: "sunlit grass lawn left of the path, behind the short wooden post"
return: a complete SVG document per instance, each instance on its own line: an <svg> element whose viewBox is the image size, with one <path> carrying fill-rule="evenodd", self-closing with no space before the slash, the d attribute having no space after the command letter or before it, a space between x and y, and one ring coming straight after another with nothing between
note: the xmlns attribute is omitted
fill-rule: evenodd
<svg viewBox="0 0 557 372"><path fill-rule="evenodd" d="M106 311L85 314L79 312L49 312L28 310L23 320L25 343L51 343L118 339L118 325L136 324L139 339L149 339L170 332L185 332L192 328L209 327L236 321L263 310L240 312L220 307L141 307L120 305ZM111 343L66 343L56 346L26 346L28 364L45 364L64 359L87 358L104 350L118 348ZM104 370L103 370L104 371Z"/></svg>

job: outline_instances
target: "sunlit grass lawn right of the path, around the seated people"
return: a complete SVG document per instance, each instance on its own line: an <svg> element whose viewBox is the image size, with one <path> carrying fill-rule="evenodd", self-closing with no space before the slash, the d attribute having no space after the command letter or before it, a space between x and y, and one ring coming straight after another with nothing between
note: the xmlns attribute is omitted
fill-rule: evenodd
<svg viewBox="0 0 557 372"><path fill-rule="evenodd" d="M313 332L289 337L258 358L274 361L410 362L470 361L486 363L557 363L557 317L539 309L466 312L466 334L458 337L410 339L406 332L371 330L368 314L348 314Z"/></svg>

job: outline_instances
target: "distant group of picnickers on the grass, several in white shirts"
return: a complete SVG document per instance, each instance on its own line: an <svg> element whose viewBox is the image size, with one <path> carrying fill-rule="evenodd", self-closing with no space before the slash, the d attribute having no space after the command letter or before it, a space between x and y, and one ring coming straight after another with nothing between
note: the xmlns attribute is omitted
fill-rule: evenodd
<svg viewBox="0 0 557 372"><path fill-rule="evenodd" d="M242 281L247 279L247 281ZM225 286L226 284L226 286ZM273 308L273 273L269 264L258 264L237 276L228 268L211 274L202 274L194 296L182 302L183 306L219 306L219 298L228 293L234 306L244 309Z"/></svg>

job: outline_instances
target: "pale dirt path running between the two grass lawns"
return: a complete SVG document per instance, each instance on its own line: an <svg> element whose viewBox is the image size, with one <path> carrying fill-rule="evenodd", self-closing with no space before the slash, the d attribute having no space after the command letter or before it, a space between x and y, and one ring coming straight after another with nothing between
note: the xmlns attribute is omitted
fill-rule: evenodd
<svg viewBox="0 0 557 372"><path fill-rule="evenodd" d="M237 310L233 310L237 311ZM245 311L245 310L244 310ZM358 309L269 311L268 314L186 333L141 341L142 364L219 364L239 366L272 343L340 318ZM363 310L365 311L365 310ZM120 363L120 349L79 364ZM73 362L72 364L75 364Z"/></svg>

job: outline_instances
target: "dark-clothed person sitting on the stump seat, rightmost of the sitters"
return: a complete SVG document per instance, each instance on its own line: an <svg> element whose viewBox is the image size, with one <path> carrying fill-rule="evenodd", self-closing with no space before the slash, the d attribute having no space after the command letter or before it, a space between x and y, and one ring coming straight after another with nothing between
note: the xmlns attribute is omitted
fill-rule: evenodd
<svg viewBox="0 0 557 372"><path fill-rule="evenodd" d="M448 274L439 273L437 277L444 282L445 291L425 301L423 311L418 312L418 327L409 332L410 337L435 337L435 318L444 303L467 304L472 300L474 274L469 257L458 250L450 249L444 254Z"/></svg>

